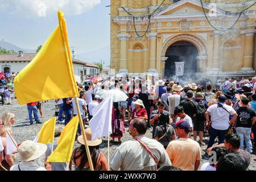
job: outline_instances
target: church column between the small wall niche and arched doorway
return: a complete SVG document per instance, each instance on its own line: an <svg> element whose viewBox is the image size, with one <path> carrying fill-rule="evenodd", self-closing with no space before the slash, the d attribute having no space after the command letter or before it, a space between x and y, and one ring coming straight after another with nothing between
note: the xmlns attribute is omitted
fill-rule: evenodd
<svg viewBox="0 0 256 182"><path fill-rule="evenodd" d="M158 33L147 34L148 40L150 41L150 59L149 59L149 69L148 72L156 71L156 37Z"/></svg>

